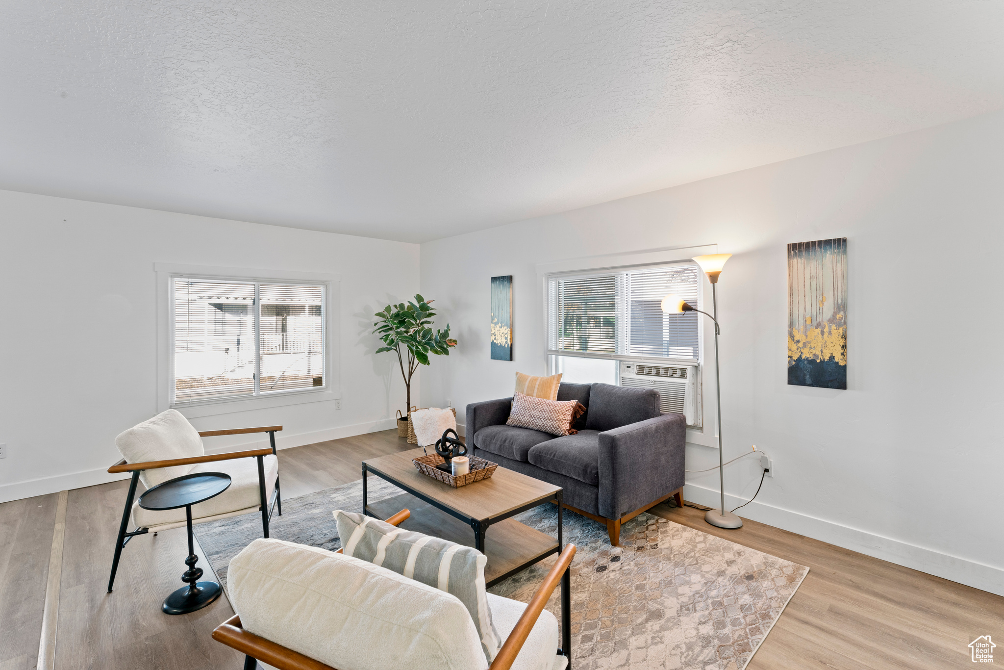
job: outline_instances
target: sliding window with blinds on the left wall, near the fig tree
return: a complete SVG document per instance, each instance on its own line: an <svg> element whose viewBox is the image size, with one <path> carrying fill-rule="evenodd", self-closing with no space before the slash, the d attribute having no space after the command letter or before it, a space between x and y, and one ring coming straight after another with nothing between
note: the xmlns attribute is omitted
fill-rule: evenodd
<svg viewBox="0 0 1004 670"><path fill-rule="evenodd" d="M175 277L172 402L324 387L324 286Z"/></svg>

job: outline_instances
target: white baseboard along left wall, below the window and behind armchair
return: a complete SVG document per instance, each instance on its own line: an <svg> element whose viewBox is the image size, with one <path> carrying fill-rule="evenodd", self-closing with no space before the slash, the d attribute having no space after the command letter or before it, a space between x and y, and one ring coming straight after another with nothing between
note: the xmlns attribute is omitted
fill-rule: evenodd
<svg viewBox="0 0 1004 670"><path fill-rule="evenodd" d="M314 444L326 440L337 440L342 437L352 437L364 433L375 433L381 430L395 428L394 419L380 419L365 423L352 424L351 426L340 426L338 428L328 428L326 430L314 431L312 433L300 433L298 435L283 435L278 433L275 436L276 449L289 449L290 447L300 447L304 444ZM255 447L267 446L268 436L257 436L253 442L230 445L217 449L207 449L208 454L217 454L225 451L241 451L242 449L252 449ZM109 462L108 465L111 465ZM0 486L0 502L20 500L30 498L35 495L45 495L72 488L83 488L84 486L94 486L105 484L109 481L129 479L129 474L108 474L107 467L95 468L93 470L81 470L80 472L70 472L68 474L58 474L51 477L39 477L27 481L18 481L12 484Z"/></svg>

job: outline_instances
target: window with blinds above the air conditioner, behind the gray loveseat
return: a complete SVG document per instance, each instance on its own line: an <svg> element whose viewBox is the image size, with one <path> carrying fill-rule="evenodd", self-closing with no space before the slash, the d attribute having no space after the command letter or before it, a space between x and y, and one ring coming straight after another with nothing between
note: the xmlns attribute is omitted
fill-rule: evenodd
<svg viewBox="0 0 1004 670"><path fill-rule="evenodd" d="M669 293L700 307L694 264L635 269L548 281L548 353L700 359L697 314L667 314Z"/></svg>

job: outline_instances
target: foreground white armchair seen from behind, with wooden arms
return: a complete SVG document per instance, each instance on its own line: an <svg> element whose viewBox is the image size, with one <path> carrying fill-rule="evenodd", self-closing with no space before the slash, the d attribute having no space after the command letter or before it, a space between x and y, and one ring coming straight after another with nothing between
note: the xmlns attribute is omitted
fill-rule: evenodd
<svg viewBox="0 0 1004 670"><path fill-rule="evenodd" d="M397 525L405 509L388 519ZM455 596L358 559L277 539L234 557L227 593L237 615L213 639L278 670L564 670L570 636L544 610L575 555L566 544L529 605L488 594L505 640L489 666ZM276 615L279 616L276 616ZM567 620L567 619L566 619Z"/></svg>

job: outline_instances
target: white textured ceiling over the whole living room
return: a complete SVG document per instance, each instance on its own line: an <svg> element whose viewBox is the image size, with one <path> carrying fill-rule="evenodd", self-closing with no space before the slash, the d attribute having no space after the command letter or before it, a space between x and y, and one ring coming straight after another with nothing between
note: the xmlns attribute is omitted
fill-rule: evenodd
<svg viewBox="0 0 1004 670"><path fill-rule="evenodd" d="M0 8L0 188L406 241L1004 108L998 0Z"/></svg>

